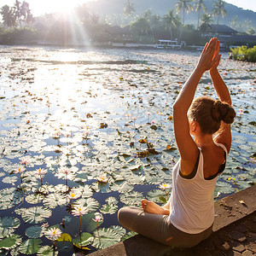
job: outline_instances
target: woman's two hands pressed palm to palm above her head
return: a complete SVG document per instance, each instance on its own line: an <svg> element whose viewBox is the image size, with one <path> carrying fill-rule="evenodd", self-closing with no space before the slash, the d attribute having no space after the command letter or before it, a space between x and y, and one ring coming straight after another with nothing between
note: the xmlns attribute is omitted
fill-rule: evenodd
<svg viewBox="0 0 256 256"><path fill-rule="evenodd" d="M203 49L196 68L204 73L213 67L218 67L219 58L220 55L218 55L218 40L217 38L212 38Z"/></svg>

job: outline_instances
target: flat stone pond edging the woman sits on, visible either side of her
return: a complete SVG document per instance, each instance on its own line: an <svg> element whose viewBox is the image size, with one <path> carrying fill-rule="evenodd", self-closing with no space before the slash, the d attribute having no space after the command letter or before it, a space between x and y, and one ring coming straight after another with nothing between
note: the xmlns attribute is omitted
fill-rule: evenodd
<svg viewBox="0 0 256 256"><path fill-rule="evenodd" d="M256 211L256 185L241 190L215 201L215 219L213 232L235 224L241 218L247 217ZM125 256L125 255L160 255L170 251L170 247L160 244L147 237L136 235L114 244L111 247L90 253L91 256ZM148 252L148 253L147 253Z"/></svg>

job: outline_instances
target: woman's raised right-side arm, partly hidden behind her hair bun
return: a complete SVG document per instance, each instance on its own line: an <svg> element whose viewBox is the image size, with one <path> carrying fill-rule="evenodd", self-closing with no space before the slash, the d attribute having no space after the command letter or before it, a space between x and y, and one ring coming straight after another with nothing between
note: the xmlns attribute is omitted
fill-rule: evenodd
<svg viewBox="0 0 256 256"><path fill-rule="evenodd" d="M218 60L215 65L212 66L212 68L209 70L213 86L216 90L216 93L218 95L218 98L222 102L226 102L231 106L231 97L230 97L230 91L227 88L226 84L224 83L224 80L218 73L218 64L220 61L221 55L218 53L219 50L219 42L217 44L217 48L215 50L214 56ZM222 143L226 146L228 152L230 152L231 147L231 131L230 131L230 125L225 124L224 122L221 123L221 127L218 131L218 134L214 138L214 141L216 143Z"/></svg>

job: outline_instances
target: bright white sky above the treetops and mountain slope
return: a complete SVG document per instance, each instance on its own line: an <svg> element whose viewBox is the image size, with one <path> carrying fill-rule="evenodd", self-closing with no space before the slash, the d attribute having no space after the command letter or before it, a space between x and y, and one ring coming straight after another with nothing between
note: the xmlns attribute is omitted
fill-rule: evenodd
<svg viewBox="0 0 256 256"><path fill-rule="evenodd" d="M74 6L90 2L92 0L26 0L32 9L32 15L44 15L45 13L58 12L68 12L68 10L73 9ZM96 1L96 0L93 0ZM106 0L108 1L108 0ZM138 0L134 0L138 1ZM23 0L20 0L23 2ZM256 1L255 0L225 0L226 3L232 3L243 9L251 9L256 12ZM4 4L13 6L15 0L0 0L0 8Z"/></svg>

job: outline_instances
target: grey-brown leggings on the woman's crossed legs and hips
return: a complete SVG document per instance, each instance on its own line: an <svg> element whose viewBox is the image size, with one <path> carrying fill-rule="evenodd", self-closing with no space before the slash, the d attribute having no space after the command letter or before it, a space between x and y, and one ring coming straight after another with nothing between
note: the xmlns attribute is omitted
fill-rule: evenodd
<svg viewBox="0 0 256 256"><path fill-rule="evenodd" d="M168 215L144 212L138 207L124 207L118 212L119 223L155 241L172 247L194 247L212 234L212 226L199 234L177 230Z"/></svg>

